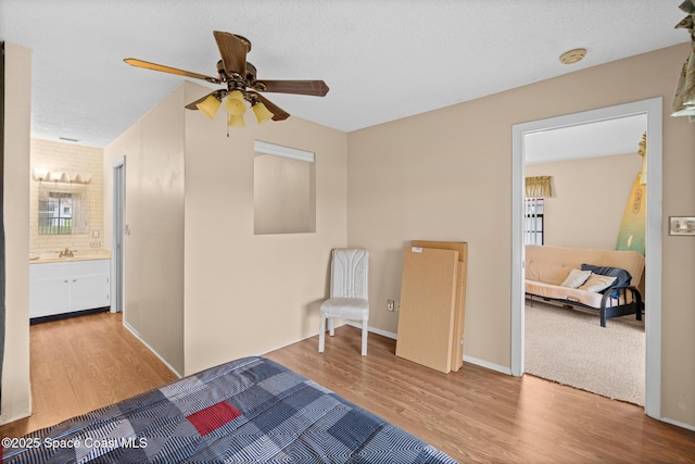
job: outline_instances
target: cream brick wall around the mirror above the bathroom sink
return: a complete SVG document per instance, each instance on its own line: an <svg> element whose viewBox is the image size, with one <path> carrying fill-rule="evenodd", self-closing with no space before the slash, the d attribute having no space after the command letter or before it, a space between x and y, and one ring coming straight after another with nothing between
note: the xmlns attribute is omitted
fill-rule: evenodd
<svg viewBox="0 0 695 464"><path fill-rule="evenodd" d="M70 186L75 191L86 191L89 199L89 230L85 234L72 235L39 235L39 185L29 183L29 251L56 251L68 247L71 250L89 251L101 248L101 237L104 227L104 151L101 148L84 147L75 143L63 143L52 140L31 139L30 170L48 170L52 173L67 173L70 177L80 174L90 176L86 186L58 183L59 188ZM52 183L42 183L51 185ZM92 237L96 231L99 237Z"/></svg>

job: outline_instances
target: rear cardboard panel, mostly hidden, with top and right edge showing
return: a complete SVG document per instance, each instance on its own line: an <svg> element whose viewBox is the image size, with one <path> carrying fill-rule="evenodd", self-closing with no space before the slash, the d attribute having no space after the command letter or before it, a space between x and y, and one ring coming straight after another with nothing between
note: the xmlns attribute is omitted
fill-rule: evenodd
<svg viewBox="0 0 695 464"><path fill-rule="evenodd" d="M452 371L464 365L464 325L466 322L466 274L468 268L468 243L464 241L413 240L413 247L455 250L458 252L458 283L456 311L454 312L454 339L452 340Z"/></svg>

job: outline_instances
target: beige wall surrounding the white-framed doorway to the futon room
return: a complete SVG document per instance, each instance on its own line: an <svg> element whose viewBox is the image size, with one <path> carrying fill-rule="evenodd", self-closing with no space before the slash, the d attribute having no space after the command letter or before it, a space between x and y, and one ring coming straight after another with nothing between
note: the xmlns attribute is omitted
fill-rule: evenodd
<svg viewBox="0 0 695 464"><path fill-rule="evenodd" d="M412 239L469 243L465 354L510 366L511 126L664 98L662 407L695 426L695 239L666 233L695 214L695 125L669 117L688 46L590 67L349 135L349 246L371 251L370 324L395 331L402 248Z"/></svg>

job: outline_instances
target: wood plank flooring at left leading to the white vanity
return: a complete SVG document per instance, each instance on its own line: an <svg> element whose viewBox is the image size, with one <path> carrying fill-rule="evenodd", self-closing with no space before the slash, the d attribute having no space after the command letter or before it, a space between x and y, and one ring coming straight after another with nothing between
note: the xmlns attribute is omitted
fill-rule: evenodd
<svg viewBox="0 0 695 464"><path fill-rule="evenodd" d="M33 325L29 350L34 414L0 426L0 437L26 435L176 378L123 326L121 313Z"/></svg>

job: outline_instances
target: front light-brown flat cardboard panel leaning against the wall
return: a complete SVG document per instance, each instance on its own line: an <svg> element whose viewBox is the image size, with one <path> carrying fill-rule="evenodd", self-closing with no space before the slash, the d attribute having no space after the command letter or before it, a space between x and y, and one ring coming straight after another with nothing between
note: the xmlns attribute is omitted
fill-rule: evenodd
<svg viewBox="0 0 695 464"><path fill-rule="evenodd" d="M405 249L397 356L451 372L457 274L457 251Z"/></svg>

